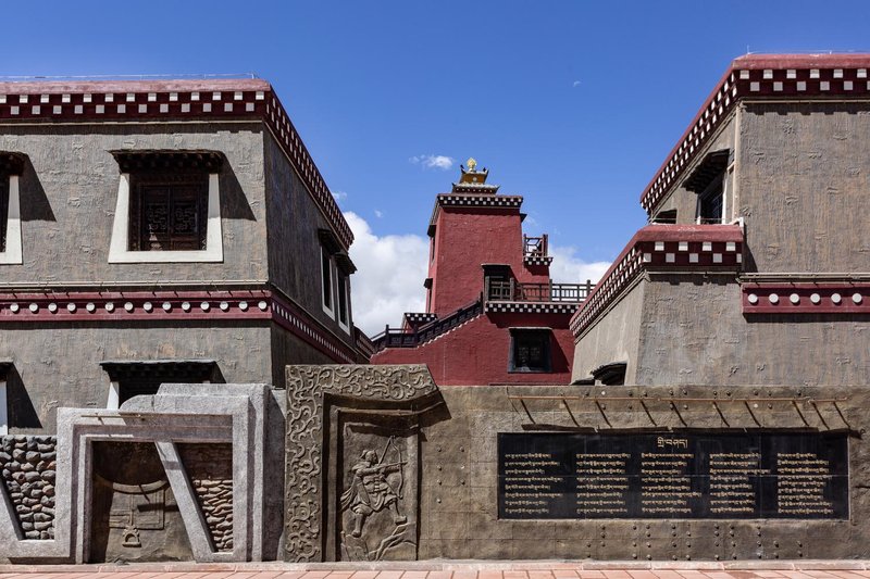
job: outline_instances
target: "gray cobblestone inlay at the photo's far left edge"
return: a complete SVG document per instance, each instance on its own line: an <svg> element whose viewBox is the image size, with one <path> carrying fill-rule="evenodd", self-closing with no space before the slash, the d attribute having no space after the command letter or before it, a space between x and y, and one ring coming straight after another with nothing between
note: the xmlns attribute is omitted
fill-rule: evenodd
<svg viewBox="0 0 870 579"><path fill-rule="evenodd" d="M54 539L57 437L0 437L3 484L25 539Z"/></svg>

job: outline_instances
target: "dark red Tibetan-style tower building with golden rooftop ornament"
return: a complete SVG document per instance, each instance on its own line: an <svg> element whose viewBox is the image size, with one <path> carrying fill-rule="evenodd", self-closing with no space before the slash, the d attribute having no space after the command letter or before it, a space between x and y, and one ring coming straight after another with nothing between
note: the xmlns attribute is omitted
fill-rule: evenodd
<svg viewBox="0 0 870 579"><path fill-rule="evenodd" d="M547 236L523 234L523 198L471 159L428 225L426 311L374 339L373 364L426 364L438 385L568 383L568 323L592 285L554 284Z"/></svg>

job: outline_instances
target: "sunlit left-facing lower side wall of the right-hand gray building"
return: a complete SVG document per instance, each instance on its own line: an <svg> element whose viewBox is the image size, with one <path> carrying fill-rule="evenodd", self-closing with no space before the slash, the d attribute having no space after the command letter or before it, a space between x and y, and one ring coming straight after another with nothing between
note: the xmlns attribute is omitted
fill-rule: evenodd
<svg viewBox="0 0 870 579"><path fill-rule="evenodd" d="M574 348L571 379L589 378L591 372L602 364L627 362L625 383L634 383L637 370L637 348L641 341L641 319L645 284L629 293L593 326Z"/></svg>

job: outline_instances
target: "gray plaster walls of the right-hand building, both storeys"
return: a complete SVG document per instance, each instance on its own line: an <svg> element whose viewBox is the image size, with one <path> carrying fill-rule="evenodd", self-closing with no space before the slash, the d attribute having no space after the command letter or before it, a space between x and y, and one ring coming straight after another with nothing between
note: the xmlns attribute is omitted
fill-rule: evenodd
<svg viewBox="0 0 870 579"><path fill-rule="evenodd" d="M805 290L806 304L828 288L867 303L868 112L861 99L741 99L650 211L654 223L675 210L676 226L695 224L687 184L709 153L729 151L721 223L742 228L738 267L644 267L575 333L573 378L625 362L625 385L866 385L867 312L753 314L742 298L772 288L787 303Z"/></svg>

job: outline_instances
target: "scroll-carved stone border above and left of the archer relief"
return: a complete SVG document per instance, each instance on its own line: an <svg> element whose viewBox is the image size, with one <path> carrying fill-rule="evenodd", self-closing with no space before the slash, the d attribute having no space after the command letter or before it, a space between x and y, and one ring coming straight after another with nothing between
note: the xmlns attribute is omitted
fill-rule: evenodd
<svg viewBox="0 0 870 579"><path fill-rule="evenodd" d="M328 475L324 473L324 448L328 449L324 429L330 427L328 407L334 403L348 410L380 405L386 408L403 408L401 412L410 411L419 414L424 412L427 405L438 403L433 399L440 400L438 387L432 380L428 369L423 365L287 366L285 441L287 471L284 503L286 509L286 561L318 562L334 558L336 555L341 556L340 549L337 550L339 551L337 554L334 554L332 550L324 553L324 544L330 542L332 537L322 529L324 508L327 506L324 505L322 489L324 488L323 477ZM324 415L326 419L324 419ZM333 428L337 428L337 425L333 425ZM372 440L359 444L373 444L374 442ZM365 450L375 448L377 446L374 445L372 449L365 446ZM375 452L380 453L380 451ZM358 456L348 460L352 458L361 458L361 450ZM382 456L378 454L377 461L381 460ZM352 467L352 465L350 466ZM343 465L343 468L346 467ZM351 470L347 470L347 473L350 473L347 476L352 477ZM335 476L338 478L337 474ZM335 491L337 487L334 484L335 481L327 486L336 494L333 496L335 506L339 505L340 494L344 494L349 489L348 484L351 483L350 480L345 481L344 471L340 477L343 480L340 492ZM327 511L333 515L326 517L327 525L344 529L344 519L338 520L339 517L336 514L338 509ZM362 537L362 531L360 536ZM374 549L375 553L377 546ZM388 550L384 549L382 554L386 551Z"/></svg>

